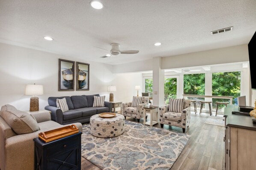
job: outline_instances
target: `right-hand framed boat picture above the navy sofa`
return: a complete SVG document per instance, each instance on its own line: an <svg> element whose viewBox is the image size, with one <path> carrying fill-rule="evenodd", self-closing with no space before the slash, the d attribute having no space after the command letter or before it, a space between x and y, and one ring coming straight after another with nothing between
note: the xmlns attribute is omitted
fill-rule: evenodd
<svg viewBox="0 0 256 170"><path fill-rule="evenodd" d="M77 62L76 90L89 90L90 65Z"/></svg>

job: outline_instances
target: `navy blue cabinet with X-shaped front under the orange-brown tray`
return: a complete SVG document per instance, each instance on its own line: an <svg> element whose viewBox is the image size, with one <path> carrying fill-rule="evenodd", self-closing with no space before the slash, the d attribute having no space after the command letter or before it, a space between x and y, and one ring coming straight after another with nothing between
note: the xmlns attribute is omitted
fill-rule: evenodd
<svg viewBox="0 0 256 170"><path fill-rule="evenodd" d="M80 170L81 132L55 141L35 141L35 170Z"/></svg>

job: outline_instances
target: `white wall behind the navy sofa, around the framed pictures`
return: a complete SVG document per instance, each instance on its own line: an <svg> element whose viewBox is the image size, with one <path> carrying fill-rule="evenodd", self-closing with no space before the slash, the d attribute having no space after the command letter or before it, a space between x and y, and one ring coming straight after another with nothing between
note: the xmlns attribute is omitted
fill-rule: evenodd
<svg viewBox="0 0 256 170"><path fill-rule="evenodd" d="M59 58L90 64L89 91L58 91ZM107 85L113 84L116 78L111 65L3 43L0 43L0 63L0 106L12 104L21 110L29 110L30 107L30 96L24 95L26 84L44 86L44 95L39 96L39 108L44 109L49 96L99 93L106 95L106 101L109 101Z"/></svg>

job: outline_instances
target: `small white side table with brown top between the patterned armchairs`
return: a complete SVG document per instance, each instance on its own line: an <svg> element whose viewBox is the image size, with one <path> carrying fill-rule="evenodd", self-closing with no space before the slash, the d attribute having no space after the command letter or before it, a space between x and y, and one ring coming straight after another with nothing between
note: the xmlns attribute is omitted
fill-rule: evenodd
<svg viewBox="0 0 256 170"><path fill-rule="evenodd" d="M143 107L144 108L144 125L149 125L149 126L153 126L155 124L158 124L159 122L159 112L158 112L158 107L157 106L153 106L153 107ZM146 122L146 114L149 113L150 114L150 121ZM153 120L153 114L156 114L154 117L155 119Z"/></svg>

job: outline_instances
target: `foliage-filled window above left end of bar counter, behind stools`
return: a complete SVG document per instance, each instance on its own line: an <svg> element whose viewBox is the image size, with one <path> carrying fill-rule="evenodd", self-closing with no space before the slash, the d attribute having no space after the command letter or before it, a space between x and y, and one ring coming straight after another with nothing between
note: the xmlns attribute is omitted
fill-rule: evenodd
<svg viewBox="0 0 256 170"><path fill-rule="evenodd" d="M205 74L184 75L185 95L205 95Z"/></svg>

